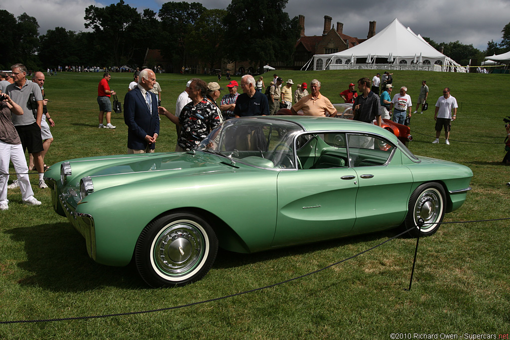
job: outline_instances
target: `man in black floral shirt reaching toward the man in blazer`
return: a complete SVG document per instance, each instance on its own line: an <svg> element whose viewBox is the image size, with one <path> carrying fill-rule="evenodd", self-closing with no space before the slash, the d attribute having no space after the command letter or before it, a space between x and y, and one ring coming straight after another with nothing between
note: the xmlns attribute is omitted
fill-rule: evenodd
<svg viewBox="0 0 510 340"><path fill-rule="evenodd" d="M159 108L161 115L165 115L174 124L181 126L175 151L194 149L220 123L216 108L206 98L207 83L194 78L191 80L189 88L191 101L183 108L179 118L165 108Z"/></svg>

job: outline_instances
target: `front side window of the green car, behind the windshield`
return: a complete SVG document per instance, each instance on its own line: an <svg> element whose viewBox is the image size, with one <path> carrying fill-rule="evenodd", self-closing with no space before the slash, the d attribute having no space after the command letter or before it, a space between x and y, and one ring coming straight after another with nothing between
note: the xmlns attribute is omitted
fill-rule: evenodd
<svg viewBox="0 0 510 340"><path fill-rule="evenodd" d="M300 169L347 168L344 133L303 134L296 139Z"/></svg>

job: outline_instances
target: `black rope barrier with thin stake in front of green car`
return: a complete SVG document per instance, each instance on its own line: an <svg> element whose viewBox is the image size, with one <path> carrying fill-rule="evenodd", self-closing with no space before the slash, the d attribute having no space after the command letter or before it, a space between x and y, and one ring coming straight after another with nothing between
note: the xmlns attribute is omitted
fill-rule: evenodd
<svg viewBox="0 0 510 340"><path fill-rule="evenodd" d="M510 220L510 218L501 218L501 219L490 219L490 220L477 220L477 221L455 221L455 222L441 222L440 224L451 224L451 223L474 223L474 222L489 222L489 221L501 221L501 220ZM423 225L425 225L427 223L421 223L420 221L420 230L421 230L421 227ZM432 224L432 223L428 223L428 224ZM414 229L415 227L412 227L412 228L409 228L409 229L406 229L404 231L402 231L401 233L395 235L394 237L392 238L389 238L388 240L385 240L373 247L370 247L368 249L365 249L357 254L354 254L352 256L349 256L347 258L344 258L338 262L335 262L334 264L331 264L331 265L328 265L326 267L323 267L321 269L317 269L315 271L312 271L312 272L309 272L309 273L306 273L306 274L303 274L303 275L299 275L299 276L296 276L296 277L293 277L293 278L290 278L290 279L287 279L287 280L284 280L284 281L281 281L281 282L278 282L278 283L273 283L273 284L270 284L270 285L266 285L266 286L263 286L263 287L259 287L259 288L255 288L255 289L251 289L251 290L248 290L248 291L243 291L243 292L239 292L239 293L235 293L235 294L230 294L230 295L225 295L225 296L222 296L222 297L218 297L218 298L213 298L213 299L208 299L208 300L202 300L202 301L197 301L197 302L192 302L192 303L187 303L187 304L184 304L184 305L178 305L178 306L172 306L172 307L166 307L166 308L158 308L158 309L150 309L150 310L141 310L141 311L131 311L131 312L124 312L124 313L114 313L114 314L105 314L105 315L94 315L94 316L85 316L85 317L69 317L69 318L56 318L56 319L34 319L34 320L14 320L14 321L0 321L0 325L5 325L5 324L19 324L19 323L39 323L39 322L55 322L55 321L68 321L68 320L87 320L87 319L100 319L100 318L111 318L111 317L119 317L119 316L127 316L127 315L138 315L138 314L145 314L145 313L152 313L152 312L158 312L158 311L165 311L165 310L172 310L172 309L179 309L179 308L184 308L184 307L190 307L190 306L196 306L196 305L199 305L199 304L204 304L204 303L208 303L208 302L214 302L214 301L220 301L220 300L224 300L224 299L228 299L228 298L232 298L232 297L235 297L235 296L240 296L240 295L245 295L245 294L248 294L248 293L253 293L253 292L257 292L257 291L262 291L262 290L265 290L265 289L269 289L269 288L272 288L272 287L275 287L277 285L281 285L281 284L284 284L284 283L288 283L288 282L292 282L292 281L295 281L295 280L298 280L298 279L301 279L303 277L307 277L307 276L310 276L310 275L313 275L313 274L316 274L316 273L319 273L319 272L322 272L328 268L331 268L333 266L336 266L336 265L339 265L345 261L348 261L352 258L355 258L355 257L358 257L370 250L373 250L375 248L378 248L392 240L395 240L396 238L402 236L403 234L405 234L406 232L408 232L409 230L412 230ZM419 238L418 238L419 240ZM418 249L418 242L417 242L417 246L416 246L416 250L415 250L415 260L413 261L413 272L414 272L414 264L415 264L415 261L416 261L416 253L417 253L417 249ZM411 281L412 281L412 276L411 276ZM410 286L409 286L409 290L411 289L411 282L410 282Z"/></svg>

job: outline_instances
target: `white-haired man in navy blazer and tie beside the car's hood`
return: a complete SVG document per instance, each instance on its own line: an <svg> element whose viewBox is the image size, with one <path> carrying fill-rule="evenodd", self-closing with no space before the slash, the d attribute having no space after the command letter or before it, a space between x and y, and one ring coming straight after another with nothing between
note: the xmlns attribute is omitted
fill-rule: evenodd
<svg viewBox="0 0 510 340"><path fill-rule="evenodd" d="M154 152L159 134L158 97L150 92L156 74L150 68L140 72L138 86L124 97L124 122L127 125L127 153Z"/></svg>

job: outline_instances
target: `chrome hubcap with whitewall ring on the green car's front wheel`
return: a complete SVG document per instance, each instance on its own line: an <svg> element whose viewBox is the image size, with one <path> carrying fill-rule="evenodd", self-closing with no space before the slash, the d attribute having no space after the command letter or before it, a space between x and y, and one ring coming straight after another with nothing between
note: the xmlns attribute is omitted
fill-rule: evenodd
<svg viewBox="0 0 510 340"><path fill-rule="evenodd" d="M209 239L195 221L177 220L160 230L150 249L150 262L155 272L166 280L182 281L205 264Z"/></svg>

